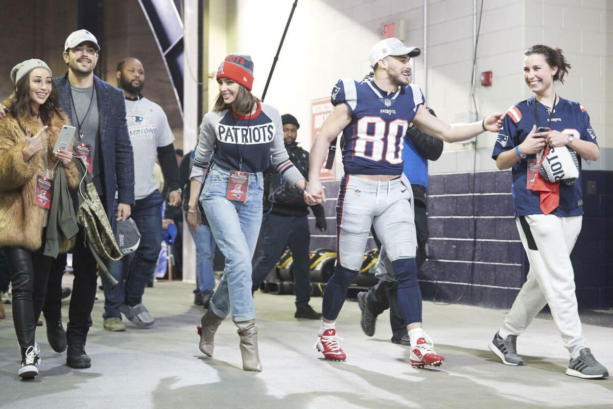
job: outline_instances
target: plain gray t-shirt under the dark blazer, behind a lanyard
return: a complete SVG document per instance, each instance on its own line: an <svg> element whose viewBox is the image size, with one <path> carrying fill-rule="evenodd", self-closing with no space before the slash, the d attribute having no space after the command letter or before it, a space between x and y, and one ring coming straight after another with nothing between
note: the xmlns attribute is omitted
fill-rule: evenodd
<svg viewBox="0 0 613 409"><path fill-rule="evenodd" d="M72 120L72 125L77 128L75 132L75 148L78 142L89 145L93 175L97 177L100 173L100 164L96 163L96 138L99 126L96 87L92 85L88 88L77 88L70 85L70 91L72 92L72 101L74 101L74 105L72 105L72 118L70 119ZM89 101L91 101L91 107L89 107ZM80 127L79 124L81 124ZM82 134L83 138L79 134Z"/></svg>

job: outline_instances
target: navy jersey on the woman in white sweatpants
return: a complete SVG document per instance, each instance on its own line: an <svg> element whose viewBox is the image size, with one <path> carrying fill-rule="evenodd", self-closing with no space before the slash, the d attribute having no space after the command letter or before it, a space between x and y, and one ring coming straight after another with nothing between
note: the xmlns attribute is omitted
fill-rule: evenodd
<svg viewBox="0 0 613 409"><path fill-rule="evenodd" d="M549 108L541 102L535 101L535 97L532 96L519 102L519 104L513 105L504 115L503 126L500 128L494 144L493 159L498 158L498 155L504 151L515 149L517 145L524 142L524 139L532 130L532 126L536 124L534 104L536 104L538 110L538 126L547 126ZM558 103L551 115L549 128L598 145L596 132L590 124L590 116L579 102L558 97ZM579 168L581 168L581 156L577 155L577 159L579 159ZM527 163L527 159L522 159L512 167L513 185L511 192L515 216L543 214L539 194L526 188ZM581 216L583 214L582 206L581 172L579 172L579 178L573 185L568 186L566 183L560 183L560 205L551 214L560 217Z"/></svg>

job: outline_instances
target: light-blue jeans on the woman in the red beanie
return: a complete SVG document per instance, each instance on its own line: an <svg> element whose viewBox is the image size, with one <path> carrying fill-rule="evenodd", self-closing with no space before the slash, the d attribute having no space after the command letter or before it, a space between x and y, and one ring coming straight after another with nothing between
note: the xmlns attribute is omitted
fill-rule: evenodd
<svg viewBox="0 0 613 409"><path fill-rule="evenodd" d="M249 175L245 202L226 199L230 171L213 165L200 195L202 208L226 258L224 275L208 308L219 318L232 312L232 321L256 318L251 296L251 259L262 224L264 179L261 172Z"/></svg>

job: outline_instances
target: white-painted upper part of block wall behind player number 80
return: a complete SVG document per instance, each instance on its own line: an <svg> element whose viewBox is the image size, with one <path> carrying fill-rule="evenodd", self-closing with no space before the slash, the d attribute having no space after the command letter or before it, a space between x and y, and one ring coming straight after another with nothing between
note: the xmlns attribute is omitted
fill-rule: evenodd
<svg viewBox="0 0 613 409"><path fill-rule="evenodd" d="M523 80L522 52L530 45L560 47L573 64L559 93L587 108L600 146L613 148L613 1L484 0L477 72L493 71L493 85L476 88L479 113L506 111L530 95ZM289 0L234 0L227 20L228 52L254 59L254 94L260 95L291 10ZM479 2L480 6L480 2ZM422 0L300 0L276 64L265 102L292 113L303 124L298 140L310 147L310 101L329 96L338 78L362 78L368 52L381 38L381 25L398 18L406 44L424 47ZM428 86L426 99L448 123L465 121L473 53L473 0L428 0ZM414 61L414 82L423 85L423 59ZM609 75L612 77L612 75ZM483 115L480 115L481 119ZM493 134L478 137L478 169L493 169ZM446 145L430 170L473 169L473 145ZM460 150L460 151L457 151ZM340 155L337 155L340 160ZM603 152L593 169L613 169ZM337 177L340 175L337 172Z"/></svg>

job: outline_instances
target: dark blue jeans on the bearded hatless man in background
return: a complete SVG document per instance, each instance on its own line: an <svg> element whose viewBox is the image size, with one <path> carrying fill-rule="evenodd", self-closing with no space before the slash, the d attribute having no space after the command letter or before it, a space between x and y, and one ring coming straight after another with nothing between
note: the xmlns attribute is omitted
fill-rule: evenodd
<svg viewBox="0 0 613 409"><path fill-rule="evenodd" d="M130 217L140 232L139 248L129 254L128 278L123 281L124 259L116 262L111 274L118 284L113 289L104 289L104 318L121 317L121 304L134 306L142 302L147 280L153 275L162 243L162 195L158 190L137 200ZM117 200L115 199L115 212Z"/></svg>

